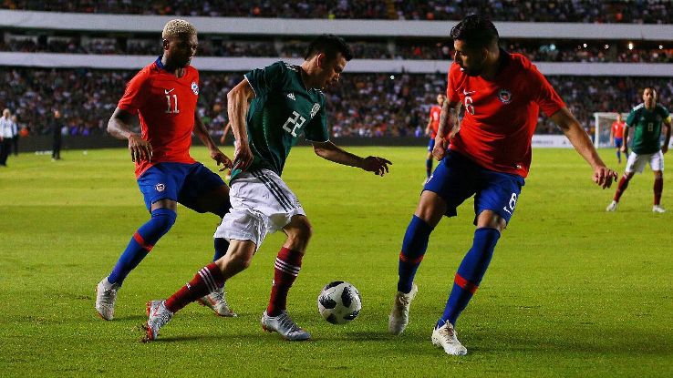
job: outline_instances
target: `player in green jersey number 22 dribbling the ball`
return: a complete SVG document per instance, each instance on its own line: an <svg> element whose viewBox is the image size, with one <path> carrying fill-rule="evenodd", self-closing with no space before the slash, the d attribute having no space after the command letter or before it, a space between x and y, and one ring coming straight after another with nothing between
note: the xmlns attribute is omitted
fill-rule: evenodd
<svg viewBox="0 0 673 378"><path fill-rule="evenodd" d="M245 270L264 237L277 230L283 230L287 239L275 259L274 284L262 326L287 340L311 337L285 312L287 292L313 233L302 205L280 178L290 149L303 134L321 158L380 176L391 164L385 158L360 158L329 141L320 88L336 84L351 58L343 39L319 36L308 46L301 66L276 62L254 69L229 92L228 113L237 141L230 191L233 208L215 231L217 237L230 240L229 250L166 301L148 303L148 341L157 337L174 312Z"/></svg>

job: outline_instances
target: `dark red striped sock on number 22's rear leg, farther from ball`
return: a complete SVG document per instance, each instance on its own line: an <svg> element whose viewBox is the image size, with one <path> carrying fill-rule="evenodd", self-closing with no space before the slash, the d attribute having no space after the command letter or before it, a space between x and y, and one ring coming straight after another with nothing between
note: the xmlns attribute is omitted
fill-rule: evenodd
<svg viewBox="0 0 673 378"><path fill-rule="evenodd" d="M212 262L197 272L186 285L166 300L166 308L170 312L179 312L184 306L196 301L204 295L223 287L224 278L220 268Z"/></svg>

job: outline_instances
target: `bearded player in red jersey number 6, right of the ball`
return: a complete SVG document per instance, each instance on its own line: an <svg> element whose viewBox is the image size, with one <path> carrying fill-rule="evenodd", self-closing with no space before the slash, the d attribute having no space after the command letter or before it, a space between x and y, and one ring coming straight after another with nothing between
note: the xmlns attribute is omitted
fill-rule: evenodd
<svg viewBox="0 0 673 378"><path fill-rule="evenodd" d="M430 232L443 216L474 196L474 240L455 275L445 311L432 332L444 352L467 349L454 325L477 290L502 230L513 215L531 164L531 139L540 108L564 131L607 188L616 172L598 157L585 130L531 62L498 47L498 31L481 15L469 15L451 29L455 47L447 100L433 155L441 160L420 196L399 253L398 293L388 330L399 334L409 322L409 305L418 291L414 275L428 247ZM460 129L457 124L465 107Z"/></svg>

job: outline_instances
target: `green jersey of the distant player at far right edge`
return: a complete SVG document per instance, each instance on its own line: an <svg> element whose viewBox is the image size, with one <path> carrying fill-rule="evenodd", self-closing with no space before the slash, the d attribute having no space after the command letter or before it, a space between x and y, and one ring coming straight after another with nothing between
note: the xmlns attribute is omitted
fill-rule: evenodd
<svg viewBox="0 0 673 378"><path fill-rule="evenodd" d="M626 118L626 126L633 129L631 149L637 154L653 154L661 149L661 124L670 117L666 107L657 104L647 110L640 104L631 110Z"/></svg>

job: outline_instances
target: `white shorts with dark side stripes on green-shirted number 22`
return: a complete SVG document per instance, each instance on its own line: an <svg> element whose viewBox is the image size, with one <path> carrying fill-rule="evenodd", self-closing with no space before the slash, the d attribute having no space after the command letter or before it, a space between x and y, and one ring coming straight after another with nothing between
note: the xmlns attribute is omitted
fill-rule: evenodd
<svg viewBox="0 0 673 378"><path fill-rule="evenodd" d="M268 169L241 172L229 191L232 209L215 230L215 238L251 240L256 249L267 234L283 229L295 215L306 215L283 179Z"/></svg>

